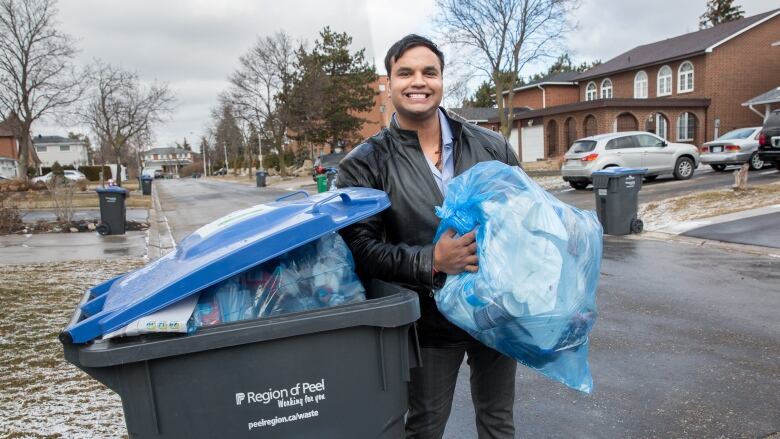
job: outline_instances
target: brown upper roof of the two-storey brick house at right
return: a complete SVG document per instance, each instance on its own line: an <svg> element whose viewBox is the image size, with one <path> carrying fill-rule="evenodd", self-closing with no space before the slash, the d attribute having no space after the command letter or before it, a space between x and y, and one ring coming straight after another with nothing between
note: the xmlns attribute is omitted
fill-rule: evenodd
<svg viewBox="0 0 780 439"><path fill-rule="evenodd" d="M708 29L645 44L644 46L637 46L583 72L579 79L590 79L658 64L663 61L672 61L692 55L709 53L726 41L778 15L780 15L780 9L775 9L752 17L722 23Z"/></svg>

